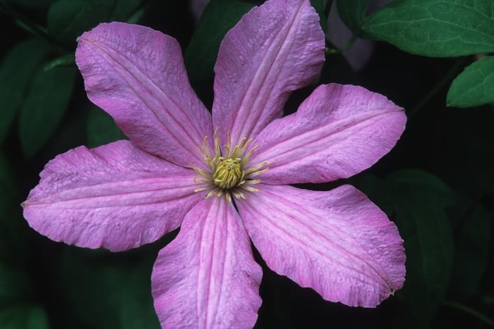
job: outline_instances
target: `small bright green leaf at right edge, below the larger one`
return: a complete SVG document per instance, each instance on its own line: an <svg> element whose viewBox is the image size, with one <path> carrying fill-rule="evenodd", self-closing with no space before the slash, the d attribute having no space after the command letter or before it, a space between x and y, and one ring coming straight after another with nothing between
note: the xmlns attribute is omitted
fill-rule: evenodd
<svg viewBox="0 0 494 329"><path fill-rule="evenodd" d="M447 106L470 107L494 101L494 56L479 59L454 79Z"/></svg>

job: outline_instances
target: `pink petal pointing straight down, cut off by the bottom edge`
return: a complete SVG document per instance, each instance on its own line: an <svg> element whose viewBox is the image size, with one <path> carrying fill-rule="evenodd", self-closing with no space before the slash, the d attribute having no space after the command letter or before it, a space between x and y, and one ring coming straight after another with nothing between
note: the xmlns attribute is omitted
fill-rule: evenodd
<svg viewBox="0 0 494 329"><path fill-rule="evenodd" d="M252 328L261 276L233 204L205 199L159 252L152 271L159 321L163 328Z"/></svg>

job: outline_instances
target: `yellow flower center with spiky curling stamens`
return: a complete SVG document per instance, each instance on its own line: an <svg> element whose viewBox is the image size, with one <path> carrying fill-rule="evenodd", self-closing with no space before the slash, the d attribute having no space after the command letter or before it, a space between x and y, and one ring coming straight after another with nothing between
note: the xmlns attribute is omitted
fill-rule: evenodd
<svg viewBox="0 0 494 329"><path fill-rule="evenodd" d="M247 166L248 159L251 158L253 151L258 148L258 145L256 145L248 149L253 139L244 137L239 144L232 148L229 136L227 144L224 145L223 154L222 149L219 147L219 137L216 135L216 130L213 139L215 141L214 152L207 145L207 136L204 137L203 145L199 147L208 170L193 167L195 172L201 176L194 180L200 185L194 191L208 191L205 194L206 198L213 195L221 197L224 194L230 202L232 195L236 199L246 199L246 191L258 192L259 190L251 185L260 183L260 180L253 178L264 173L268 169L265 167L268 163L263 161L255 166Z"/></svg>

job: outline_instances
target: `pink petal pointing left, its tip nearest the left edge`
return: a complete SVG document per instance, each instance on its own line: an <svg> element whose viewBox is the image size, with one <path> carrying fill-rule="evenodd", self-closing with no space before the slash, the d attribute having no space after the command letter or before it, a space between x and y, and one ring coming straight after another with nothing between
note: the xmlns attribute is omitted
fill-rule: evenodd
<svg viewBox="0 0 494 329"><path fill-rule="evenodd" d="M55 241L114 252L177 228L202 196L194 172L119 141L56 156L24 202L29 225Z"/></svg>

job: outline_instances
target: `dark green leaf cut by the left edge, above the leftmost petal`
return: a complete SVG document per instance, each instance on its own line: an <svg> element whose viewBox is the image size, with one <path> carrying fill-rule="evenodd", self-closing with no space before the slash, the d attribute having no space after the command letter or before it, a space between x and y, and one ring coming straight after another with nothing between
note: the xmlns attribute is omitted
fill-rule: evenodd
<svg viewBox="0 0 494 329"><path fill-rule="evenodd" d="M50 47L32 39L20 42L9 51L0 66L0 144L23 104L32 77L49 54Z"/></svg>

